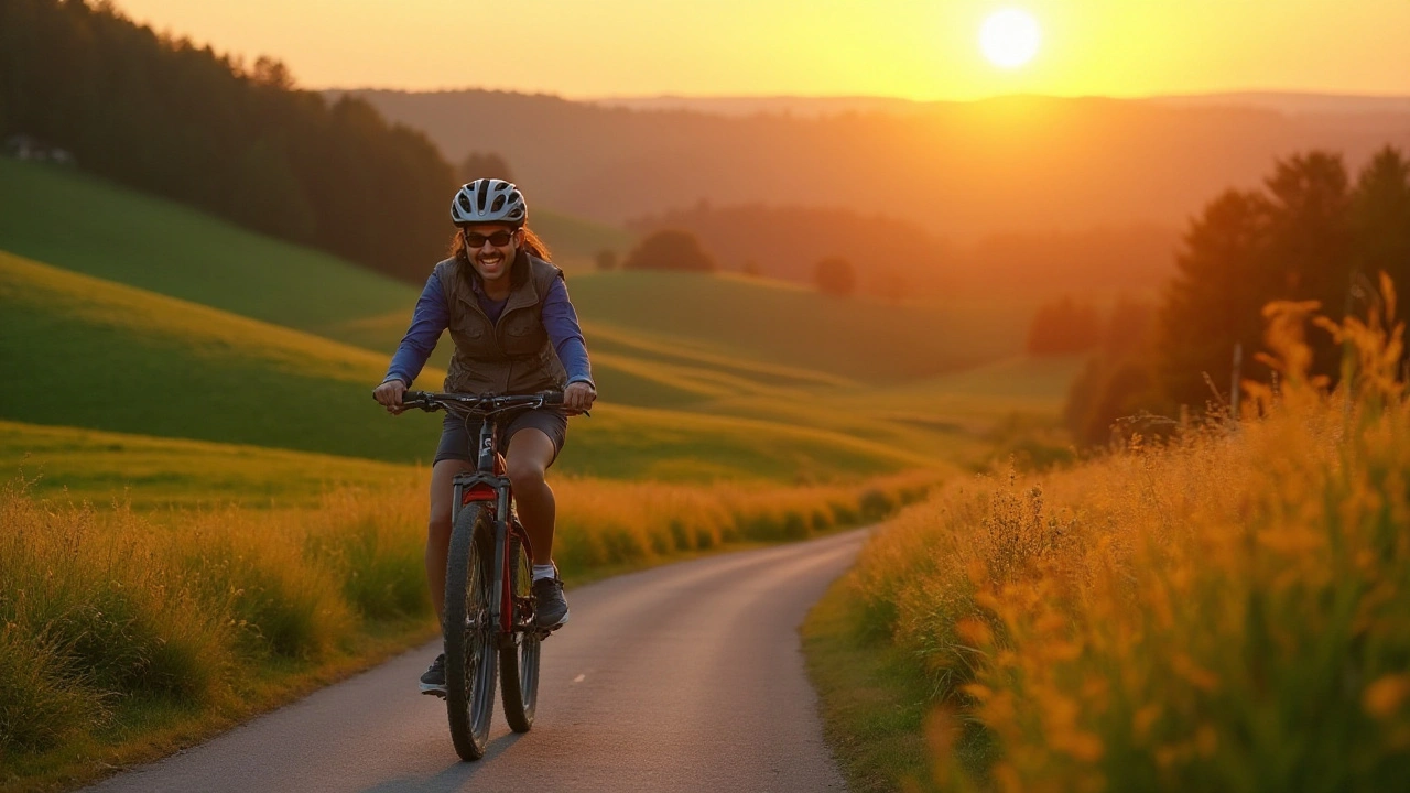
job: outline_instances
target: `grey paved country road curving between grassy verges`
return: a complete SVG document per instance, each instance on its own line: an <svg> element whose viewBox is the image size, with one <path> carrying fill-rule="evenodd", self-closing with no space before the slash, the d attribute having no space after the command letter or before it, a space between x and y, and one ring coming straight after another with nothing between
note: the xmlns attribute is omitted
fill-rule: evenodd
<svg viewBox="0 0 1410 793"><path fill-rule="evenodd" d="M416 693L437 642L90 790L843 790L797 628L863 536L571 590L533 730L515 735L496 706L475 763L455 756L440 700Z"/></svg>

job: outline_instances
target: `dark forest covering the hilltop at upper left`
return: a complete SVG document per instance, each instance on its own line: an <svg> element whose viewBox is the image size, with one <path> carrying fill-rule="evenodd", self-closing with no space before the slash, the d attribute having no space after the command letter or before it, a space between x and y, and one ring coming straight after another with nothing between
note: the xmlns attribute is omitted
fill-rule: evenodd
<svg viewBox="0 0 1410 793"><path fill-rule="evenodd" d="M16 134L409 281L448 238L455 174L422 133L361 99L299 90L278 61L247 66L109 3L0 0L0 138Z"/></svg>

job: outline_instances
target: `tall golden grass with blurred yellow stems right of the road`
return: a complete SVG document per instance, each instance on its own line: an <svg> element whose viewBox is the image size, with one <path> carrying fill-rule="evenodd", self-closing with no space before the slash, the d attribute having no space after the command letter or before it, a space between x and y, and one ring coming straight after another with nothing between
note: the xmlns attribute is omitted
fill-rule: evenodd
<svg viewBox="0 0 1410 793"><path fill-rule="evenodd" d="M932 682L935 780L997 790L1390 790L1410 775L1410 402L1400 326L1238 423L1042 478L955 485L854 573ZM963 762L956 758L966 758ZM977 759L976 759L977 758Z"/></svg>

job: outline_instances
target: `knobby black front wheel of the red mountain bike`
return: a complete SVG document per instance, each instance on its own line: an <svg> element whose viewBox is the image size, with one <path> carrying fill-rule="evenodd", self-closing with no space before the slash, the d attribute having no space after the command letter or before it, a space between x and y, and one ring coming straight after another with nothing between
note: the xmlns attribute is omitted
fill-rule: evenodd
<svg viewBox="0 0 1410 793"><path fill-rule="evenodd" d="M485 755L495 713L499 619L491 611L491 593L499 586L499 564L494 547L495 521L489 508L462 509L450 535L443 632L450 738L464 761Z"/></svg>

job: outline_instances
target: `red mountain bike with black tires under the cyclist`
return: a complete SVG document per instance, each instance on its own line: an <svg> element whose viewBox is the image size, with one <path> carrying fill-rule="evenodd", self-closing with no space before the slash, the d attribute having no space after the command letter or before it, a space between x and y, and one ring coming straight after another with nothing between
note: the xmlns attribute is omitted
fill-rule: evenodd
<svg viewBox="0 0 1410 793"><path fill-rule="evenodd" d="M485 755L495 711L495 672L505 720L533 727L539 701L540 642L551 629L534 622L533 546L510 507L513 492L498 449L499 422L519 411L561 405L563 394L479 396L407 391L402 405L482 419L474 473L455 476L450 556L446 564L446 711L455 753ZM458 626L460 629L451 629Z"/></svg>

